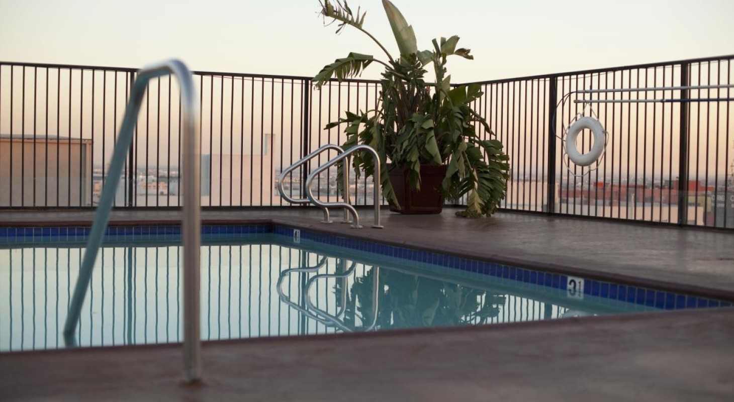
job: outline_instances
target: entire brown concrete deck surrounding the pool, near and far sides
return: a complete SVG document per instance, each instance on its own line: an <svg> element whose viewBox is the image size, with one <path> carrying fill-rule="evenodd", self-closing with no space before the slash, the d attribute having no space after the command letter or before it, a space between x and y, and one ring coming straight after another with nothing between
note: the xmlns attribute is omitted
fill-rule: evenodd
<svg viewBox="0 0 734 402"><path fill-rule="evenodd" d="M355 230L320 224L309 208L202 213L734 298L733 232L525 213L459 219L452 210L385 213L380 230L368 226L371 210L360 216ZM115 211L111 221L178 219ZM0 225L91 220L92 211L0 211ZM0 400L730 401L734 309L232 340L205 343L203 359L204 384L182 387L180 346L0 354Z"/></svg>

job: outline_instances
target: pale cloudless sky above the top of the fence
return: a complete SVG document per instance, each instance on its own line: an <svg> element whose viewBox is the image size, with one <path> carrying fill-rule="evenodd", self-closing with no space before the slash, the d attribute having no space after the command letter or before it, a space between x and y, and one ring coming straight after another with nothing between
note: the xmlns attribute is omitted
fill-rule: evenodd
<svg viewBox="0 0 734 402"><path fill-rule="evenodd" d="M453 82L734 54L734 0L394 0L418 48L458 34L474 61ZM450 4L450 5L449 5ZM398 52L380 0L365 28ZM335 35L318 0L0 0L0 61L313 76L349 51L382 57L355 29ZM372 66L363 78L377 78Z"/></svg>

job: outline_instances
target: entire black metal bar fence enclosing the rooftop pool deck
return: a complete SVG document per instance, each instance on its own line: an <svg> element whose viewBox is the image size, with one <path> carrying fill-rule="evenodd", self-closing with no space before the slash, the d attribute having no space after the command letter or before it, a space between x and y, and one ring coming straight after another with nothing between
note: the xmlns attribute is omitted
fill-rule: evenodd
<svg viewBox="0 0 734 402"><path fill-rule="evenodd" d="M480 83L475 107L511 158L502 207L734 228L732 59ZM0 208L95 205L134 78L127 68L0 62ZM204 207L288 206L275 190L280 171L321 145L344 142L338 128L324 125L346 110L374 109L379 92L377 81L316 90L309 77L257 74L195 72L195 83ZM589 89L597 92L580 92ZM180 110L175 82L152 81L117 207L181 205ZM568 161L562 141L582 115L607 131L603 157L586 168ZM588 151L591 133L576 145ZM298 197L308 173L330 156L285 178L286 191ZM336 199L334 175L316 180L317 197ZM352 200L370 203L372 186L355 180Z"/></svg>

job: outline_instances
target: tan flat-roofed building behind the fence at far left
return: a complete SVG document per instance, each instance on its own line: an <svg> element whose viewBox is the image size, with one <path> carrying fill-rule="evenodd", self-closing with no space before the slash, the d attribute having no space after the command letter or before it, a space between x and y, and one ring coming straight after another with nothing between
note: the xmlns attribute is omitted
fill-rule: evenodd
<svg viewBox="0 0 734 402"><path fill-rule="evenodd" d="M0 134L0 206L91 205L92 140Z"/></svg>

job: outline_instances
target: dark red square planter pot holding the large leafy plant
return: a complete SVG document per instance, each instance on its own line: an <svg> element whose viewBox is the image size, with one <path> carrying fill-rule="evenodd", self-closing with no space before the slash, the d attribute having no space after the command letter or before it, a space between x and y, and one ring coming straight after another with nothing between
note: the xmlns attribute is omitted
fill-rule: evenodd
<svg viewBox="0 0 734 402"><path fill-rule="evenodd" d="M437 190L446 177L446 165L421 165L421 189L410 189L407 172L396 167L389 171L400 210L390 205L390 211L398 213L441 213L443 197Z"/></svg>

